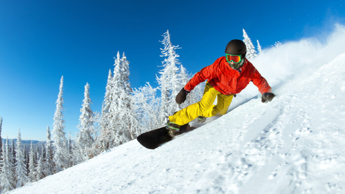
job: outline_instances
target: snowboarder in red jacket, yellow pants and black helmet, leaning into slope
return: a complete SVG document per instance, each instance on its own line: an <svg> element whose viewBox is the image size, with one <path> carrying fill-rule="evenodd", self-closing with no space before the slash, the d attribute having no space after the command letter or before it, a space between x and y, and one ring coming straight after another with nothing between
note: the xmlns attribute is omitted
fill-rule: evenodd
<svg viewBox="0 0 345 194"><path fill-rule="evenodd" d="M195 86L207 80L202 99L169 116L167 130L170 136L179 134L180 126L198 118L221 116L228 110L232 98L240 93L250 81L262 94L262 102L271 101L275 95L259 71L245 58L246 46L242 40L231 40L220 57L198 73L182 88L175 100L181 104ZM217 97L217 105L213 105Z"/></svg>

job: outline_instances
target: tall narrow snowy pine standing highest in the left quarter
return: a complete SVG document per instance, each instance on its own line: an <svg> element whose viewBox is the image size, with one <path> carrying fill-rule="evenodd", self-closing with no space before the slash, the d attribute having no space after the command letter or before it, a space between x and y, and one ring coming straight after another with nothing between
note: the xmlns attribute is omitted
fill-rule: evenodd
<svg viewBox="0 0 345 194"><path fill-rule="evenodd" d="M65 120L63 115L63 84L64 76L60 80L60 90L56 100L56 110L54 114L53 145L55 147L54 163L55 171L60 172L69 167L69 154L67 152L67 139L65 136Z"/></svg>

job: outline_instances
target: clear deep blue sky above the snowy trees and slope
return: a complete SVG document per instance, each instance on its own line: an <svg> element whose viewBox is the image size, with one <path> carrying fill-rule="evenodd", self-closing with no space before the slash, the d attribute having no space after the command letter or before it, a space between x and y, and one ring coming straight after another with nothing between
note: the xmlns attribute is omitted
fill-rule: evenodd
<svg viewBox="0 0 345 194"><path fill-rule="evenodd" d="M64 76L66 133L77 132L84 86L100 111L117 51L130 61L133 88L157 86L162 34L169 30L190 73L224 55L244 29L263 49L322 37L345 24L342 0L1 0L0 116L2 138L45 140ZM254 64L255 65L255 64ZM269 80L268 80L269 81Z"/></svg>

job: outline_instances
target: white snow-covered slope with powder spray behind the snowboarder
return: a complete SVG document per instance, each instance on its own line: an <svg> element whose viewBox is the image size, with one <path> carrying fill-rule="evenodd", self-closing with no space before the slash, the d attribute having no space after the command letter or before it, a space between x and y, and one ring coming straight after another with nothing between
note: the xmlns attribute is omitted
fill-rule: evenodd
<svg viewBox="0 0 345 194"><path fill-rule="evenodd" d="M13 193L345 193L342 30L341 41L310 53L308 40L268 51L263 59L304 48L302 59L272 57L272 72L253 63L277 95L270 103L248 89L226 115L155 150L134 140ZM292 45L300 47L288 53Z"/></svg>

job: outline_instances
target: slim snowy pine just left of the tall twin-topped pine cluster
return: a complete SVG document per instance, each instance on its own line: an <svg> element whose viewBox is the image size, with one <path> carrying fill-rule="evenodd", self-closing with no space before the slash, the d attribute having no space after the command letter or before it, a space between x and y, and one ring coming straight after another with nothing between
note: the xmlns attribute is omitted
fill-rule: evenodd
<svg viewBox="0 0 345 194"><path fill-rule="evenodd" d="M96 150L98 150L99 153L108 150L110 146L110 141L112 139L112 132L110 129L110 114L109 114L109 109L110 105L112 102L112 88L113 88L113 83L112 83L112 73L111 70L109 69L108 73L108 79L106 82L106 87L105 87L105 95L104 95L104 101L102 105L102 113L101 113L101 118L100 118L100 135L97 139L96 142Z"/></svg>

